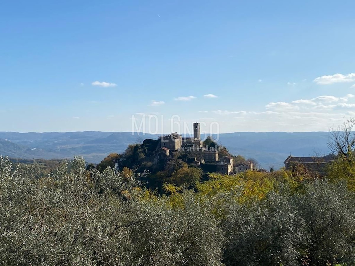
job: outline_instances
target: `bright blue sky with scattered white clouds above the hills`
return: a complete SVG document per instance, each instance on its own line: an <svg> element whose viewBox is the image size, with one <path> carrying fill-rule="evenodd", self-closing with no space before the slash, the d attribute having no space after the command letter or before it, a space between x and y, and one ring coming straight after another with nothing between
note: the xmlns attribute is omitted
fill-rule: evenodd
<svg viewBox="0 0 355 266"><path fill-rule="evenodd" d="M354 10L2 1L0 131L132 131L144 121L148 132L156 120L168 133L173 115L206 131L327 131L355 116Z"/></svg>

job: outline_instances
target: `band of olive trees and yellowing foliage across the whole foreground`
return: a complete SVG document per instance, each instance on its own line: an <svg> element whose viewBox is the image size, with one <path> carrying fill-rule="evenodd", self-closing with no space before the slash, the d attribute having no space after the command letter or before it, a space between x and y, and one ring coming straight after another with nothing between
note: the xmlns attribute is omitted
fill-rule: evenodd
<svg viewBox="0 0 355 266"><path fill-rule="evenodd" d="M326 177L201 176L173 159L157 172L163 193L144 171L115 167L142 146L43 174L0 157L0 265L355 265L355 138L346 143Z"/></svg>

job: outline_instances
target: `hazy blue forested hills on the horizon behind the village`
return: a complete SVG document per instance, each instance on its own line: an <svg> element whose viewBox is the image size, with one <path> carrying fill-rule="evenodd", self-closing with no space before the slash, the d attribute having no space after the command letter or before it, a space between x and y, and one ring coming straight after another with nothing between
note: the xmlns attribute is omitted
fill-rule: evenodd
<svg viewBox="0 0 355 266"><path fill-rule="evenodd" d="M121 153L127 145L159 135L132 132L0 132L0 154L19 158L70 158L82 155L88 162L97 163L109 153ZM328 132L235 132L219 135L218 143L230 153L253 157L262 167L280 167L290 154L312 156L328 154ZM213 135L213 138L216 138Z"/></svg>

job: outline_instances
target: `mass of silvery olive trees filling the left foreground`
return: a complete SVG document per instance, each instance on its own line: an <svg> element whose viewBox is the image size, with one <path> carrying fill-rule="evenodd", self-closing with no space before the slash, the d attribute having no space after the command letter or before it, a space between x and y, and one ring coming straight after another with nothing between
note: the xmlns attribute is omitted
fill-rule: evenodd
<svg viewBox="0 0 355 266"><path fill-rule="evenodd" d="M43 178L0 158L1 264L221 265L209 205L192 192L180 207L169 200L147 198L133 175L87 171L82 158Z"/></svg>

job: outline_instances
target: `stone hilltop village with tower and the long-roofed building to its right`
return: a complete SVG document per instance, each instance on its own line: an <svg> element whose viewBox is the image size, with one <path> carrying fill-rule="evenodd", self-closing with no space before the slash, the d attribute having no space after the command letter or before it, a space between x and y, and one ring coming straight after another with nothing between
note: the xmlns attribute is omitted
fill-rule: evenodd
<svg viewBox="0 0 355 266"><path fill-rule="evenodd" d="M138 149L141 153L138 152ZM193 137L170 133L158 140L145 139L139 146L133 148L133 158L141 170L151 172L164 168L173 159L180 159L188 165L200 168L204 173L236 174L257 170L252 161L235 161L236 157L228 153L224 146L219 146L211 137L201 140L200 123L193 123ZM289 156L284 164L286 170L302 165L311 172L324 174L324 169L332 159L327 157L294 157ZM260 169L258 171L266 171Z"/></svg>

